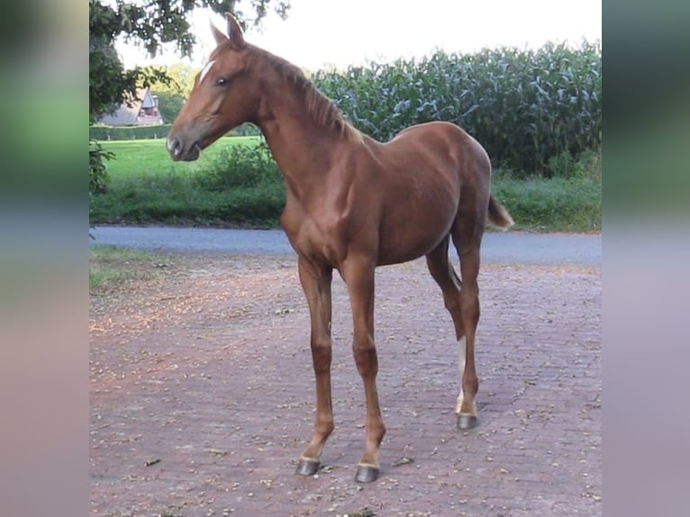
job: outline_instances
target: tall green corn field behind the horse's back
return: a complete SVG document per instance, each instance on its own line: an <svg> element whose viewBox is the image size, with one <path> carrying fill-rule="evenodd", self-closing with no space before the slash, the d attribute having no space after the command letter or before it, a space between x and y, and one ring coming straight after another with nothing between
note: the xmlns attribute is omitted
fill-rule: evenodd
<svg viewBox="0 0 690 517"><path fill-rule="evenodd" d="M379 141L415 123L455 122L494 166L549 177L549 159L597 150L602 138L601 45L370 62L319 70L313 82L361 131Z"/></svg>

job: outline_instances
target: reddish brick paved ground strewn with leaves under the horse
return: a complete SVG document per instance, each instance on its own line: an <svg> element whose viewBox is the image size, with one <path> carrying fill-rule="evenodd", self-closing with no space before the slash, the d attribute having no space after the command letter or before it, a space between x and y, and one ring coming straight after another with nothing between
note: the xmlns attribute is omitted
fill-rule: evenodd
<svg viewBox="0 0 690 517"><path fill-rule="evenodd" d="M483 267L472 431L455 429L457 349L423 260L378 269L388 432L380 479L358 485L365 410L340 278L336 430L304 478L313 372L295 259L167 266L92 301L92 517L601 514L598 268Z"/></svg>

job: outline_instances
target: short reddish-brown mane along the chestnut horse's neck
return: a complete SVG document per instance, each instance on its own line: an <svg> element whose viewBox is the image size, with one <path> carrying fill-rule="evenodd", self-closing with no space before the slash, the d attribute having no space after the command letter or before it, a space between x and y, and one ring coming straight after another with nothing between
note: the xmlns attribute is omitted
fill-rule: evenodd
<svg viewBox="0 0 690 517"><path fill-rule="evenodd" d="M341 137L350 141L361 141L362 133L359 132L350 122L345 119L345 115L340 108L304 76L304 72L295 67L286 59L280 58L266 50L258 47L252 48L253 53L266 59L270 66L274 68L286 82L292 85L299 95L304 99L306 112L317 124L334 129Z"/></svg>

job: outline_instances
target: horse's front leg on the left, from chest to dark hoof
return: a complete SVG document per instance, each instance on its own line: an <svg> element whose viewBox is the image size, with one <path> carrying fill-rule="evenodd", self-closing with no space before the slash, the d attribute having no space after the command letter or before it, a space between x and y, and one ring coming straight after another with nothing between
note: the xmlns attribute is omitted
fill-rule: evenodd
<svg viewBox="0 0 690 517"><path fill-rule="evenodd" d="M299 277L312 322L310 344L316 376L316 422L312 440L299 459L295 474L312 476L321 465L323 446L333 431L331 405L331 278L332 269L299 258Z"/></svg>

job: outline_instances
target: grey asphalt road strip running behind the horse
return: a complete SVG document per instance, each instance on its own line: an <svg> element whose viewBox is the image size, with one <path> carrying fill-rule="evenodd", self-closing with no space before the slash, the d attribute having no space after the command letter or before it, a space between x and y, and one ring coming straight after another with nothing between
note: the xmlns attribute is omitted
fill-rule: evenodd
<svg viewBox="0 0 690 517"><path fill-rule="evenodd" d="M230 230L99 226L92 228L91 246L183 253L286 255L295 251L281 230ZM482 242L482 260L499 264L599 266L601 234L488 232Z"/></svg>

